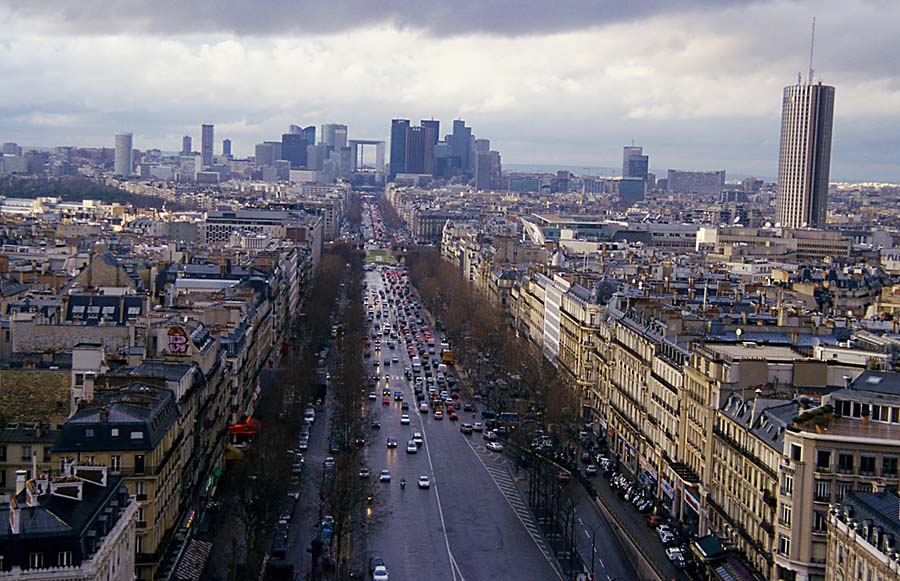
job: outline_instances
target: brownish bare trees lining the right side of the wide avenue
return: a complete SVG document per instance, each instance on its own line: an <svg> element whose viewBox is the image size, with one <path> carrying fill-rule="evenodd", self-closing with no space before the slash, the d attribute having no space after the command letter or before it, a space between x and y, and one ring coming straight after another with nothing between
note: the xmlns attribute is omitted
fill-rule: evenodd
<svg viewBox="0 0 900 581"><path fill-rule="evenodd" d="M578 394L563 372L519 336L504 313L478 296L437 249L413 248L407 264L410 281L443 325L476 392L495 411L516 412L520 419L532 420L527 423L532 429L519 430L519 438L539 427L561 441L579 414Z"/></svg>

